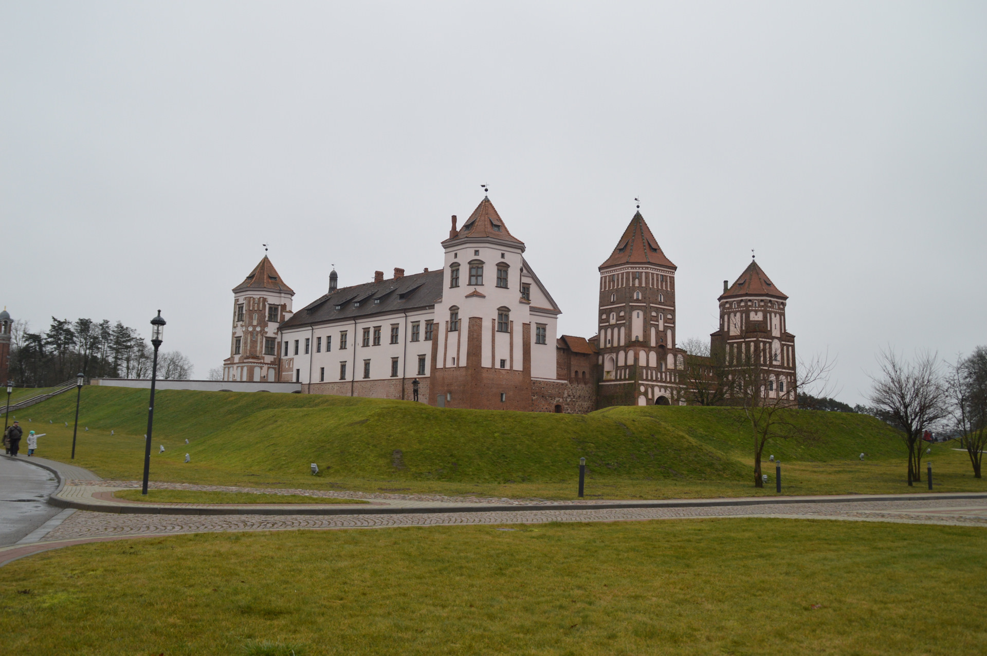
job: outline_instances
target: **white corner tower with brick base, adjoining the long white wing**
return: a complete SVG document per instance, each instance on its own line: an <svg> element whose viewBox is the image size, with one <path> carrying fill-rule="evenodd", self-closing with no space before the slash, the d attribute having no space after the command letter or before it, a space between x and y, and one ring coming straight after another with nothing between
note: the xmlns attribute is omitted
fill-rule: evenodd
<svg viewBox="0 0 987 656"><path fill-rule="evenodd" d="M556 380L562 312L489 197L462 228L452 217L435 301L432 405L531 410L532 380Z"/></svg>

